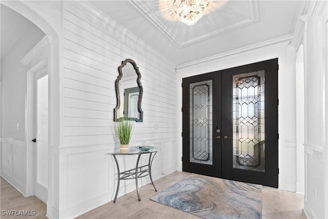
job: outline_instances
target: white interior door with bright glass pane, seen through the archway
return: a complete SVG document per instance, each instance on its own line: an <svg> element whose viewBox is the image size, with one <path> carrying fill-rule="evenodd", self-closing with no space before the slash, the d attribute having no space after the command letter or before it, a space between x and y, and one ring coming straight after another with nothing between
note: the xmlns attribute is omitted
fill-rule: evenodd
<svg viewBox="0 0 328 219"><path fill-rule="evenodd" d="M34 194L48 200L48 72L34 74Z"/></svg>

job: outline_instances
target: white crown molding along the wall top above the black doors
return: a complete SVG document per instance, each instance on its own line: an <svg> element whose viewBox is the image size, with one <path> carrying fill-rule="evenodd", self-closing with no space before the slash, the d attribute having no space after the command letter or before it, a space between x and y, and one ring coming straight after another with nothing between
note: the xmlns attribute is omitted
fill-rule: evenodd
<svg viewBox="0 0 328 219"><path fill-rule="evenodd" d="M293 38L292 34L277 37L274 39L270 39L269 41L264 41L261 43L253 44L251 46L245 46L239 49L231 50L228 52L223 52L220 54L212 55L206 58L200 58L192 62L180 64L176 68L176 72L188 70L190 68L194 68L194 66L197 65L197 67L204 66L204 65L209 65L209 63L213 62L218 62L222 59L225 58L231 58L231 57L236 57L240 55L245 55L245 54L251 54L251 53L256 53L262 50L268 50L268 49L273 49L277 47L285 47L290 44L291 40Z"/></svg>

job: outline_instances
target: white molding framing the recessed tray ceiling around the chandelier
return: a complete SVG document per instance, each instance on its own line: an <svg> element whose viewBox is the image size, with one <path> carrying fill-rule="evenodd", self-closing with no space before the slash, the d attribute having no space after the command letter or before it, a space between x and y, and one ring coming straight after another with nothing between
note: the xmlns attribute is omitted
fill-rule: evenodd
<svg viewBox="0 0 328 219"><path fill-rule="evenodd" d="M193 39L190 39L189 41L181 42L176 35L174 35L162 22L159 21L159 19L154 15L153 12L151 12L144 3L142 3L140 0L137 1L131 1L129 2L142 14L144 15L148 21L154 25L160 32L162 32L166 37L170 39L178 48L182 48L200 41L203 41L204 39L208 39L210 37L213 37L215 35L243 27L245 25L253 24L254 22L258 21L259 13L258 13L258 6L257 1L247 1L248 5L248 12L249 12L249 19L245 19L244 21L238 22L234 25L228 26L226 28L222 28L216 31L213 31L208 34L201 35L199 37L195 37Z"/></svg>

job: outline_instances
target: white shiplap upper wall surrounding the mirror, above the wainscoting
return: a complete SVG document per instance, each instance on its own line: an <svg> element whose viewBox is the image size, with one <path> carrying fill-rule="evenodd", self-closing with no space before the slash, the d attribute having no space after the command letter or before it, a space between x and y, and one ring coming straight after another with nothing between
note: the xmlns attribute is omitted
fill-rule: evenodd
<svg viewBox="0 0 328 219"><path fill-rule="evenodd" d="M124 33L119 38L113 36L115 30L109 24L75 4L64 4L64 145L114 141L114 81L117 67L126 58L137 63L144 88L144 123L135 124L132 141L175 138L174 66L158 55L154 57L154 52L145 52L140 45L125 44L131 41L128 36ZM159 130L154 129L154 123Z"/></svg>

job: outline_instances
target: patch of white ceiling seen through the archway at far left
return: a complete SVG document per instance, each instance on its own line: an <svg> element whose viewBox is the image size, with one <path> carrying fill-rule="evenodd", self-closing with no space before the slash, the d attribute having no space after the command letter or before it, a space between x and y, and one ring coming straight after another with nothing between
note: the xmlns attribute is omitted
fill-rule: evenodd
<svg viewBox="0 0 328 219"><path fill-rule="evenodd" d="M26 17L1 5L1 58L17 43L18 39L34 25Z"/></svg>

